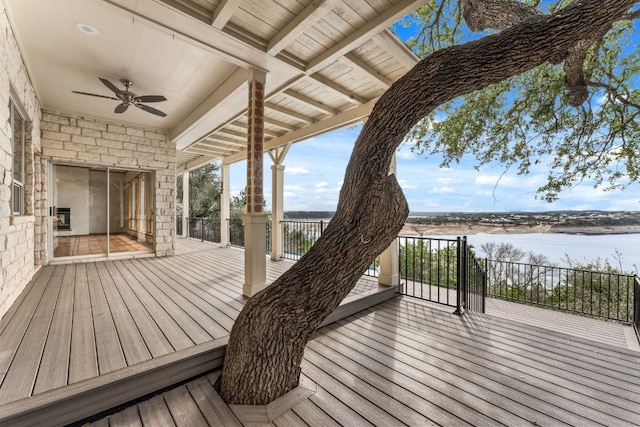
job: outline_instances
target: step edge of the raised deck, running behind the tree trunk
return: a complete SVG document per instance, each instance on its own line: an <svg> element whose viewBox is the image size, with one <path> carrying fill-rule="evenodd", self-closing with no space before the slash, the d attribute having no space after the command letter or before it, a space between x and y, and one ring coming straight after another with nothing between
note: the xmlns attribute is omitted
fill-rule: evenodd
<svg viewBox="0 0 640 427"><path fill-rule="evenodd" d="M321 326L373 307L396 296L397 287L379 286L366 294L347 297ZM108 412L220 369L228 337L90 378L56 390L0 406L0 425L67 425Z"/></svg>

